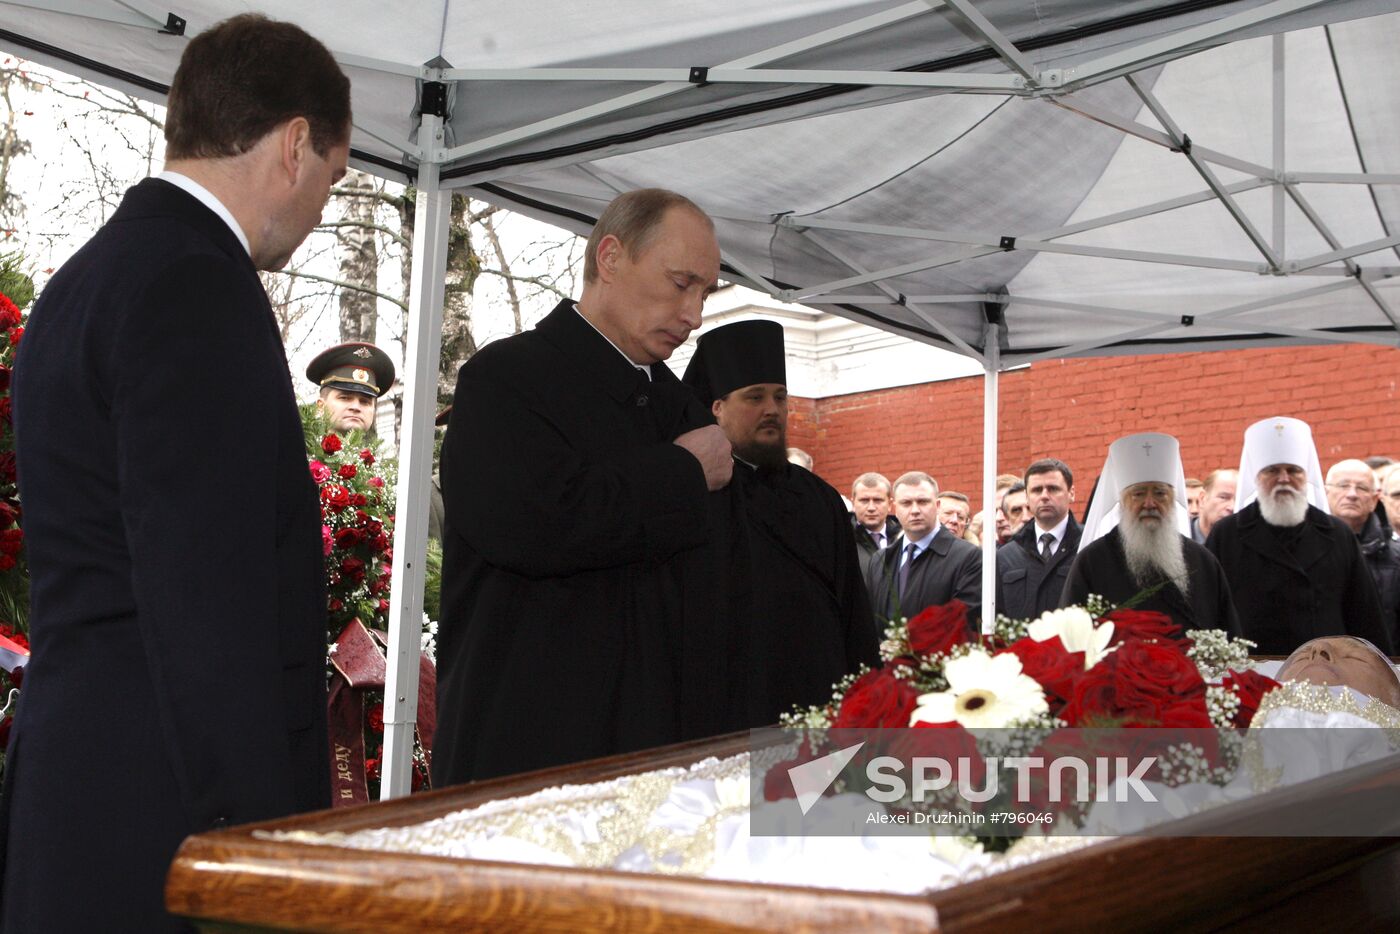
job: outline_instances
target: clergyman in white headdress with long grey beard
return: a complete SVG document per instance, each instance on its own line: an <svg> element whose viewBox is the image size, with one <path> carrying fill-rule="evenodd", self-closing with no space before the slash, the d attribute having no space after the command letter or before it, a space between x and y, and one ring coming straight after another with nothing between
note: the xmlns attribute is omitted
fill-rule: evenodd
<svg viewBox="0 0 1400 934"><path fill-rule="evenodd" d="M1219 562L1183 534L1184 472L1176 438L1133 434L1109 448L1099 501L1085 521L1061 606L1098 594L1156 611L1184 630L1239 634L1239 616ZM1117 494L1109 500L1109 492Z"/></svg>

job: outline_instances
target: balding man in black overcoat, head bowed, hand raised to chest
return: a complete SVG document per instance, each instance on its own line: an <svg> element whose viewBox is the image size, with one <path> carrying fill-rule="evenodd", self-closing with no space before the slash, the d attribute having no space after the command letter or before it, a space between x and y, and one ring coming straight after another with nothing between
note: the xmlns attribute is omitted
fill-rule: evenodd
<svg viewBox="0 0 1400 934"><path fill-rule="evenodd" d="M630 192L598 218L584 262L577 304L458 374L442 442L438 787L725 723L732 653L711 611L729 590L704 546L710 492L734 462L662 363L715 288L714 227L673 192ZM503 492L518 507L505 525Z"/></svg>

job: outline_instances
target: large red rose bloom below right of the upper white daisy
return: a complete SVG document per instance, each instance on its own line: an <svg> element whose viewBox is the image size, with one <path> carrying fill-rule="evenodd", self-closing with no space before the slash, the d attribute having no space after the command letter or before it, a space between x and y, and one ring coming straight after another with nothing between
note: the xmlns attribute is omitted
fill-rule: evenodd
<svg viewBox="0 0 1400 934"><path fill-rule="evenodd" d="M1196 664L1176 643L1137 639L1079 678L1061 717L1074 727L1210 727Z"/></svg>

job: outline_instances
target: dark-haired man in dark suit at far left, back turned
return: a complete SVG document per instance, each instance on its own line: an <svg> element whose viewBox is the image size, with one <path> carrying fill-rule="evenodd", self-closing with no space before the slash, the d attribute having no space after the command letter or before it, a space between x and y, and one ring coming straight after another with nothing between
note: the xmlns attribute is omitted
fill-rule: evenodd
<svg viewBox="0 0 1400 934"><path fill-rule="evenodd" d="M6 931L158 931L181 840L326 807L321 513L258 279L346 169L350 84L290 24L193 39L167 171L53 277L15 367L34 657Z"/></svg>

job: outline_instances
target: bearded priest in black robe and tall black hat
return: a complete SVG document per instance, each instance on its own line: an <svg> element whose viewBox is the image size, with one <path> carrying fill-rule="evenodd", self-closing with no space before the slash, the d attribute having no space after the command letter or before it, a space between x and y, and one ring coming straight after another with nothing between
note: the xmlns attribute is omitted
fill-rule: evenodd
<svg viewBox="0 0 1400 934"><path fill-rule="evenodd" d="M787 461L781 325L743 321L703 335L683 382L734 445L725 578L750 581L750 599L731 620L743 660L731 678L746 725L771 724L878 661L850 518L830 485Z"/></svg>

